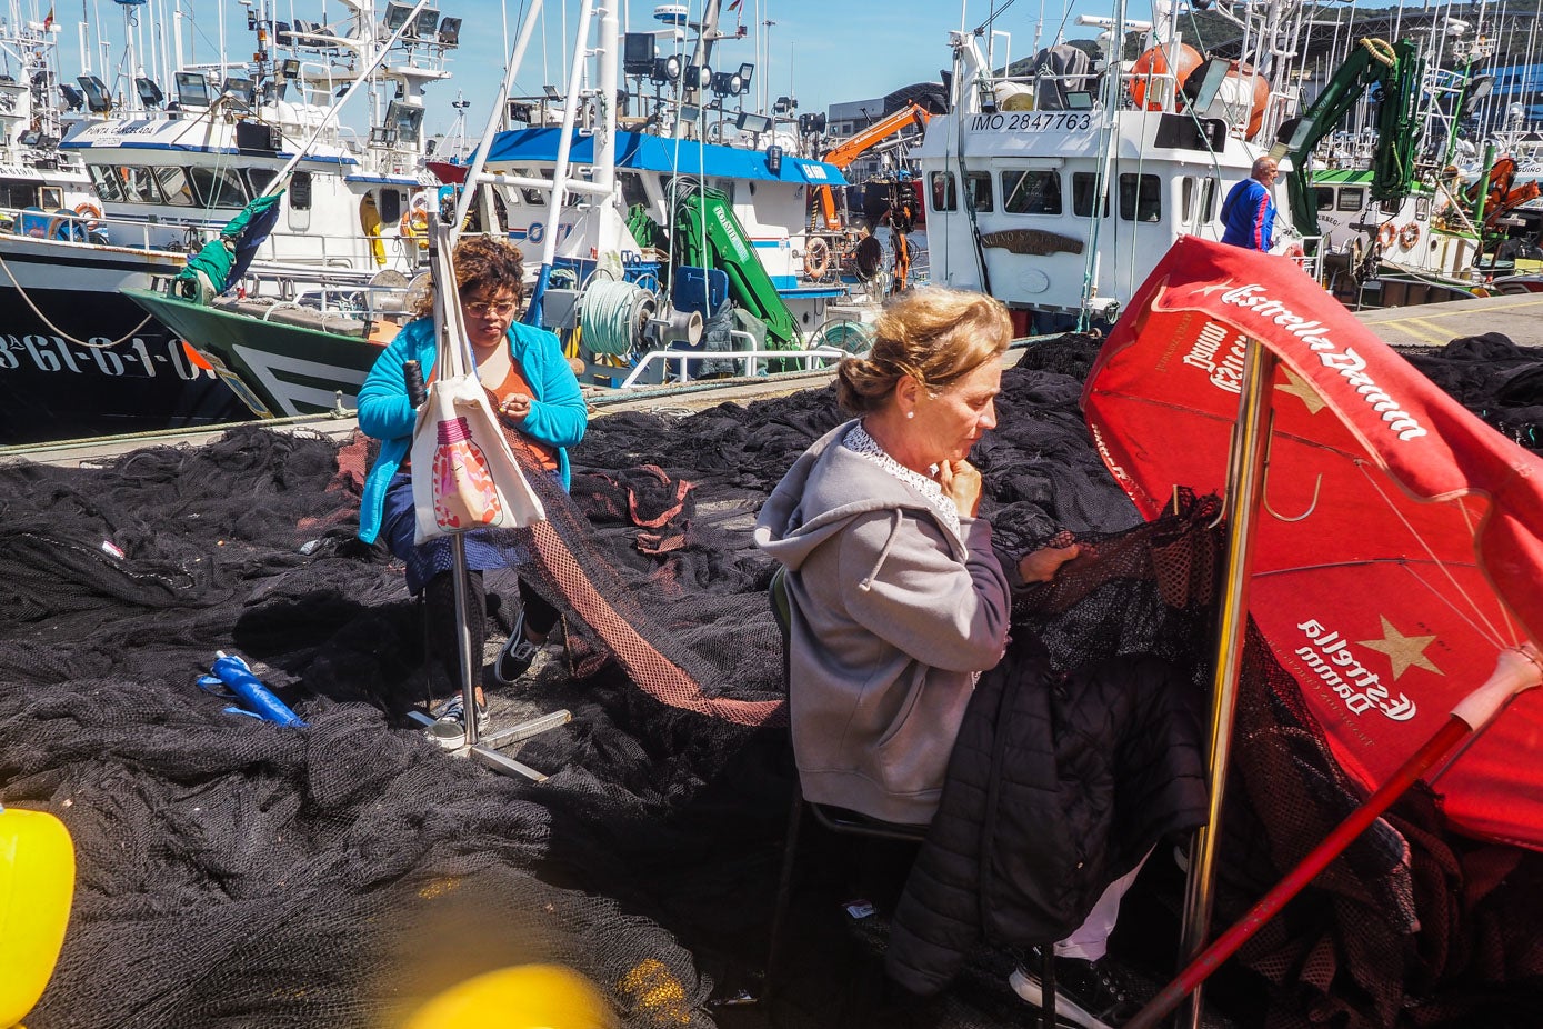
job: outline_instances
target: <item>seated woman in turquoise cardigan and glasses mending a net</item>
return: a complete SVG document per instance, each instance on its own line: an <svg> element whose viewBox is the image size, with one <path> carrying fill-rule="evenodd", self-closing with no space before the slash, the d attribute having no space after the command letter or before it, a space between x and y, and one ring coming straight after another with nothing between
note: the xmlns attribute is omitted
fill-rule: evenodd
<svg viewBox="0 0 1543 1029"><path fill-rule="evenodd" d="M455 247L455 285L464 315L477 376L522 466L554 475L568 488L568 447L588 426L588 407L579 380L549 332L515 321L523 290L523 265L517 248L486 236L469 236ZM360 504L360 538L384 537L392 554L407 565L407 589L427 591L429 640L435 657L460 683L458 626L452 582L452 548L447 537L414 543L415 511L409 450L417 410L407 400L403 376L406 361L418 361L424 380L434 376L438 342L434 333L434 295L417 299L414 321L375 359L360 390L360 427L381 440L380 457L370 467ZM483 571L517 562L509 534L500 529L468 532L468 599L472 653L481 654L485 622ZM557 625L557 609L520 580L522 612L509 643L494 665L500 682L522 676ZM480 663L480 659L478 659ZM485 717L481 687L477 687L478 719ZM464 713L457 693L443 707L432 736L444 747L464 739Z"/></svg>

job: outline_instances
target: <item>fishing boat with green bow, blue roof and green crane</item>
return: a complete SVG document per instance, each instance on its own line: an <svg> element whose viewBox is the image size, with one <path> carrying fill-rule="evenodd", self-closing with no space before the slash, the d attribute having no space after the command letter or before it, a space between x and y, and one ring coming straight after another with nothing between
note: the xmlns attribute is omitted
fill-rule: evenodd
<svg viewBox="0 0 1543 1029"><path fill-rule="evenodd" d="M770 142L772 117L725 113L753 68L704 71L721 35L717 5L693 26L693 52L660 54L642 32L626 35L625 59L614 9L599 12L593 40L591 9L588 0L580 8L568 93L509 105L526 120L501 131L511 111L498 105L443 201L469 231L488 227L525 253L528 319L559 332L597 389L802 369L863 346L876 298L839 279L807 219L810 190L846 179ZM526 12L522 39L537 17L539 6ZM596 66L589 89L585 54ZM622 116L602 100L616 96L608 83L642 79L645 68L659 79L645 113ZM236 375L259 413L295 415L355 403L401 321L403 284L349 310L127 295Z"/></svg>

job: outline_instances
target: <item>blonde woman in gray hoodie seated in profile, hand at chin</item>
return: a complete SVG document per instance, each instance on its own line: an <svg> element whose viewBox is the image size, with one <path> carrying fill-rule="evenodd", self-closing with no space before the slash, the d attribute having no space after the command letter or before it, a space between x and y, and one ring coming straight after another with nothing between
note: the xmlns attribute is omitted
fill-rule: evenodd
<svg viewBox="0 0 1543 1029"><path fill-rule="evenodd" d="M1011 338L1006 309L989 296L926 288L892 301L867 356L838 369L838 400L858 417L810 446L759 514L758 546L787 566L788 716L799 785L813 804L932 822L977 682L1008 648L1012 586L1048 582L1080 551L1042 548L1004 572L978 515L983 480L969 452L997 424ZM1102 964L1134 879L1134 869L1123 872L1108 889L1097 884L1097 902L1079 910L1086 921L1057 944L1057 1010L1086 1029L1133 1010ZM952 975L918 984L924 977L896 975L893 961L887 970L918 994ZM1038 1001L1037 978L1018 972L1012 984Z"/></svg>

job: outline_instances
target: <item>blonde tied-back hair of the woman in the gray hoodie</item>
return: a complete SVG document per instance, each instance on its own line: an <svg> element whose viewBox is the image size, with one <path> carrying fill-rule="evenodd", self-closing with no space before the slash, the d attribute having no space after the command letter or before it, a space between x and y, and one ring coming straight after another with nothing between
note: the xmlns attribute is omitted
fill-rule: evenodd
<svg viewBox="0 0 1543 1029"><path fill-rule="evenodd" d="M903 375L937 396L1001 358L1012 341L1001 301L941 287L901 293L884 305L873 330L867 356L842 358L836 369L836 400L856 415L887 406Z"/></svg>

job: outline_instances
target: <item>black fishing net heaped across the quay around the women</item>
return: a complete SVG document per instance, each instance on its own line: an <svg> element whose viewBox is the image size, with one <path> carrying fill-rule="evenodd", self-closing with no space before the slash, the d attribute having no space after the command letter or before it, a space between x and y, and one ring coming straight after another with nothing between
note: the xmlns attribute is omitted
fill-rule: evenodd
<svg viewBox="0 0 1543 1029"><path fill-rule="evenodd" d="M1063 665L1157 651L1204 691L1213 509L1180 498L1139 523L1077 412L1096 349L1026 352L977 454L1003 552L1066 535L1091 551L1018 597L1015 631ZM1440 358L1421 359L1438 376ZM1537 420L1508 410L1531 438ZM28 1024L390 1026L528 961L583 972L628 1026L875 1024L864 983L909 853L807 828L775 1003L717 1003L762 989L793 785L772 565L750 526L841 420L818 389L591 423L572 500L543 497L551 521L528 532L522 569L563 611L568 653L501 691L572 711L511 751L542 782L452 757L403 717L432 662L401 565L353 538L369 441L242 427L93 467L0 469L0 801L59 815L79 861ZM489 628L508 631L512 575L489 574L488 594ZM216 651L252 660L307 727L201 691ZM1356 799L1290 679L1258 657L1248 671L1219 924ZM1177 875L1154 856L1116 933L1159 977ZM1534 853L1446 833L1416 793L1213 1000L1236 1024L1535 1024L1540 875ZM978 955L915 1024L1021 1024L1006 961Z"/></svg>

